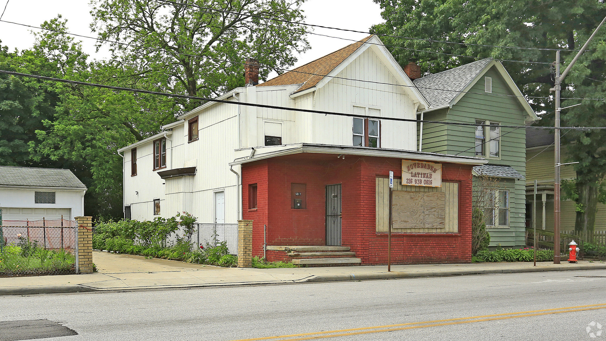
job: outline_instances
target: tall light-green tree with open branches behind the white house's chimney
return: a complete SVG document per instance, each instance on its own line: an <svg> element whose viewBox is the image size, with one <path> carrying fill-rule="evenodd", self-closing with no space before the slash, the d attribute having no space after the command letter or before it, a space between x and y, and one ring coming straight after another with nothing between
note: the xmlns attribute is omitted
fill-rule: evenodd
<svg viewBox="0 0 606 341"><path fill-rule="evenodd" d="M92 27L116 59L137 70L156 90L218 96L244 84L241 64L256 58L261 78L292 66L308 43L299 22L303 0L97 0ZM210 9L212 8L212 9ZM295 29L295 30L289 30ZM153 84L153 85L151 85ZM184 110L197 101L175 100Z"/></svg>

